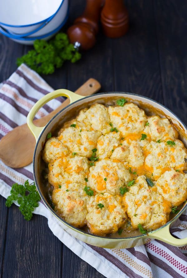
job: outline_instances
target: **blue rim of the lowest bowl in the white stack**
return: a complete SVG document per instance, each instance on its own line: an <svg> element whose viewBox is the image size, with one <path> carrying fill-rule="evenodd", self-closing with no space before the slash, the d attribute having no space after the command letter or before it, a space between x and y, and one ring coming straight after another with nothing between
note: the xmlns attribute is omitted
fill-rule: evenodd
<svg viewBox="0 0 187 278"><path fill-rule="evenodd" d="M58 27L56 27L53 31L51 31L51 32L49 32L47 34L42 35L42 36L38 36L38 37L30 37L30 38L28 38L28 37L17 37L15 35L12 35L12 34L9 34L9 33L6 33L4 31L2 31L1 28L0 28L0 33L2 33L3 35L5 35L6 37L8 37L10 39L14 39L14 40L18 40L18 41L19 40L20 41L35 41L35 40L40 40L40 39L46 38L46 37L51 36L51 35L55 34L56 32L58 32L62 28L62 26L64 26L64 24L66 23L66 21L68 19L68 16L69 16L69 8L67 10L67 14L66 14L65 19L63 20L63 22Z"/></svg>

